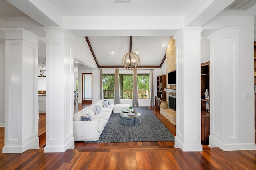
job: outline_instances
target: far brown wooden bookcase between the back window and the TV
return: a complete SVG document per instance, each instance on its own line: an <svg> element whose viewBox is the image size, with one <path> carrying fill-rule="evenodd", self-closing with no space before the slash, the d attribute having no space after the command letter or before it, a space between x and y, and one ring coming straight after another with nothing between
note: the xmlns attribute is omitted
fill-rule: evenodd
<svg viewBox="0 0 256 170"><path fill-rule="evenodd" d="M156 76L156 81L157 95L155 96L155 105L158 109L160 109L160 100L166 102L166 92L164 91L166 88L166 75L162 74Z"/></svg>

